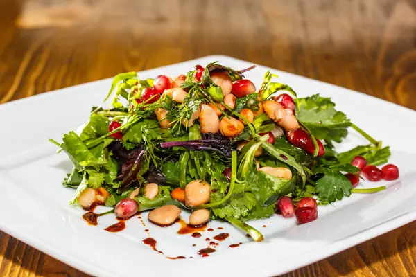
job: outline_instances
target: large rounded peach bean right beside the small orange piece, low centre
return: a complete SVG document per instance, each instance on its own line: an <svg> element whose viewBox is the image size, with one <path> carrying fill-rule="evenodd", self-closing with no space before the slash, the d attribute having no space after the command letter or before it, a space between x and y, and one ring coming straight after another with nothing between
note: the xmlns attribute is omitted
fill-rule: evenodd
<svg viewBox="0 0 416 277"><path fill-rule="evenodd" d="M185 187L185 204L196 207L209 202L211 186L206 181L191 181Z"/></svg>

